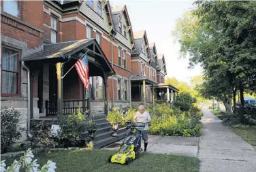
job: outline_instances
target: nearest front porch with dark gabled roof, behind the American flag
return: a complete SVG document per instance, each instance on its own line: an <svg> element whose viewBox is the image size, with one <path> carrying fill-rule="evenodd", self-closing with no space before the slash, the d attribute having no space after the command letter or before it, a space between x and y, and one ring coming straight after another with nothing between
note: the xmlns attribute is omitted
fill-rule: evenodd
<svg viewBox="0 0 256 172"><path fill-rule="evenodd" d="M82 113L89 112L90 116L90 91L84 89L73 67L85 54L88 57L89 77L103 79L103 114L108 114L107 80L115 72L97 41L86 39L44 45L44 50L24 58L32 74L31 97L38 97L39 114L34 114L31 109L31 119L55 119L57 115L76 113L78 108Z"/></svg>

